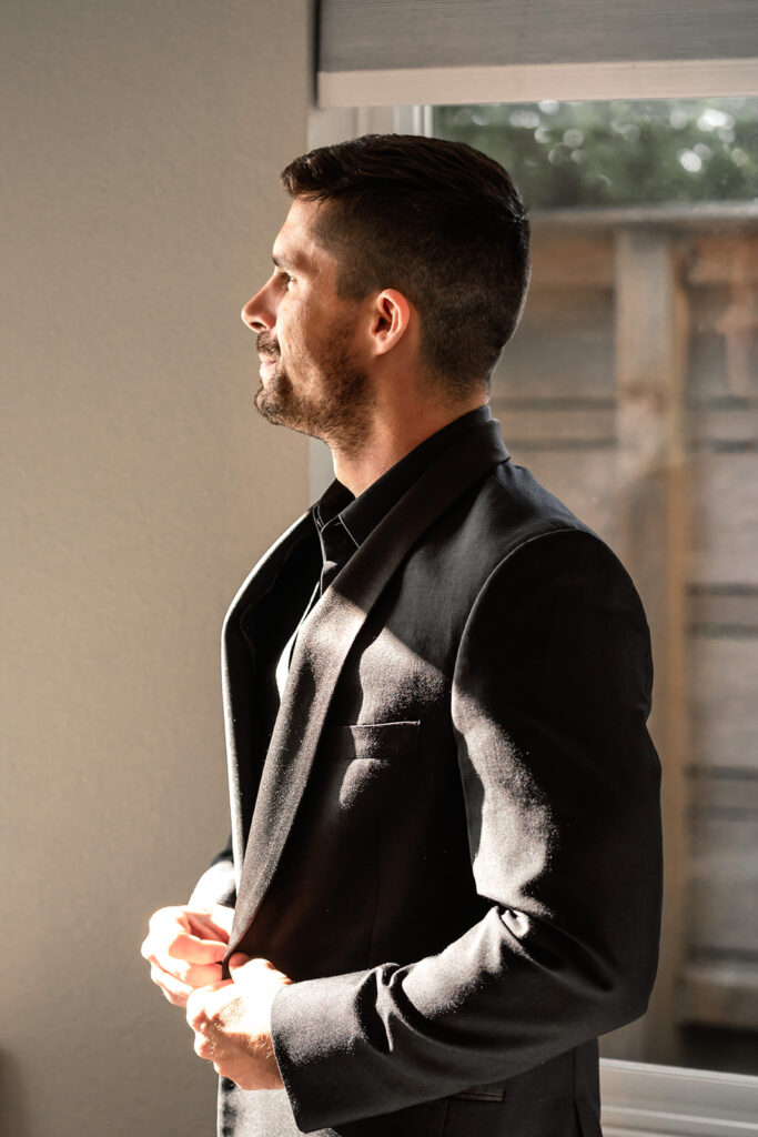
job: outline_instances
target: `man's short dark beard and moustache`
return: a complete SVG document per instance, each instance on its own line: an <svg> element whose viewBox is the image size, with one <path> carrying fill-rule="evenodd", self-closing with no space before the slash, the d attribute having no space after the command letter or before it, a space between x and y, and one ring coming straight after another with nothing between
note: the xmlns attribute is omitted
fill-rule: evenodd
<svg viewBox="0 0 758 1137"><path fill-rule="evenodd" d="M333 449L355 453L368 433L373 389L350 351L347 335L333 334L318 346L313 363L323 376L318 392L298 392L282 363L278 343L258 338L258 351L275 366L260 381L256 407L268 422L320 438Z"/></svg>

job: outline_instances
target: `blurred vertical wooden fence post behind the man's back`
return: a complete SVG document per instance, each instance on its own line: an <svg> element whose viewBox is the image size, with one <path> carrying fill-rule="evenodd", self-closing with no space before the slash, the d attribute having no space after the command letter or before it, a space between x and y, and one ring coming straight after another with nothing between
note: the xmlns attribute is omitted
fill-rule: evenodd
<svg viewBox="0 0 758 1137"><path fill-rule="evenodd" d="M639 1023L611 1036L605 1053L657 1062L675 1057L676 989L684 947L688 306L680 262L670 232L618 231L619 551L642 596L652 634L650 725L664 769L665 901L660 966L650 1010Z"/></svg>

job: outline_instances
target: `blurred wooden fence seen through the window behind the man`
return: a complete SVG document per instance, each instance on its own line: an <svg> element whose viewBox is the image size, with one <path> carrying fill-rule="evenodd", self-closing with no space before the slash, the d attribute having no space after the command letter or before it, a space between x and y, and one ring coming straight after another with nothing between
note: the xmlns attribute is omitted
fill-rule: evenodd
<svg viewBox="0 0 758 1137"><path fill-rule="evenodd" d="M493 410L514 460L618 551L653 641L661 963L614 1057L683 1064L691 1024L758 1046L757 364L758 207L534 218Z"/></svg>

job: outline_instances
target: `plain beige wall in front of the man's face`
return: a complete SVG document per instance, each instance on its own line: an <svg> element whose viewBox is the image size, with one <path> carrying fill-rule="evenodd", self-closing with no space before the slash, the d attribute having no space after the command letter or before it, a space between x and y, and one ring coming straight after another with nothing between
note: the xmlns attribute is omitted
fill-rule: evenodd
<svg viewBox="0 0 758 1137"><path fill-rule="evenodd" d="M242 302L306 143L307 0L5 0L0 1129L195 1137L139 957L226 835L218 630L306 504ZM7 171L3 173L3 179Z"/></svg>

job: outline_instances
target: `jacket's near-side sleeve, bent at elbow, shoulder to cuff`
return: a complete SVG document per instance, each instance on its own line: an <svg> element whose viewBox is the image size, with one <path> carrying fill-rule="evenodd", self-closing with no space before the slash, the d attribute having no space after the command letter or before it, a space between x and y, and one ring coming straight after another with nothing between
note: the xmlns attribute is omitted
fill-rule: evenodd
<svg viewBox="0 0 758 1137"><path fill-rule="evenodd" d="M660 915L648 628L585 531L502 561L451 695L484 918L441 954L284 988L273 1037L303 1130L519 1073L644 1012Z"/></svg>

